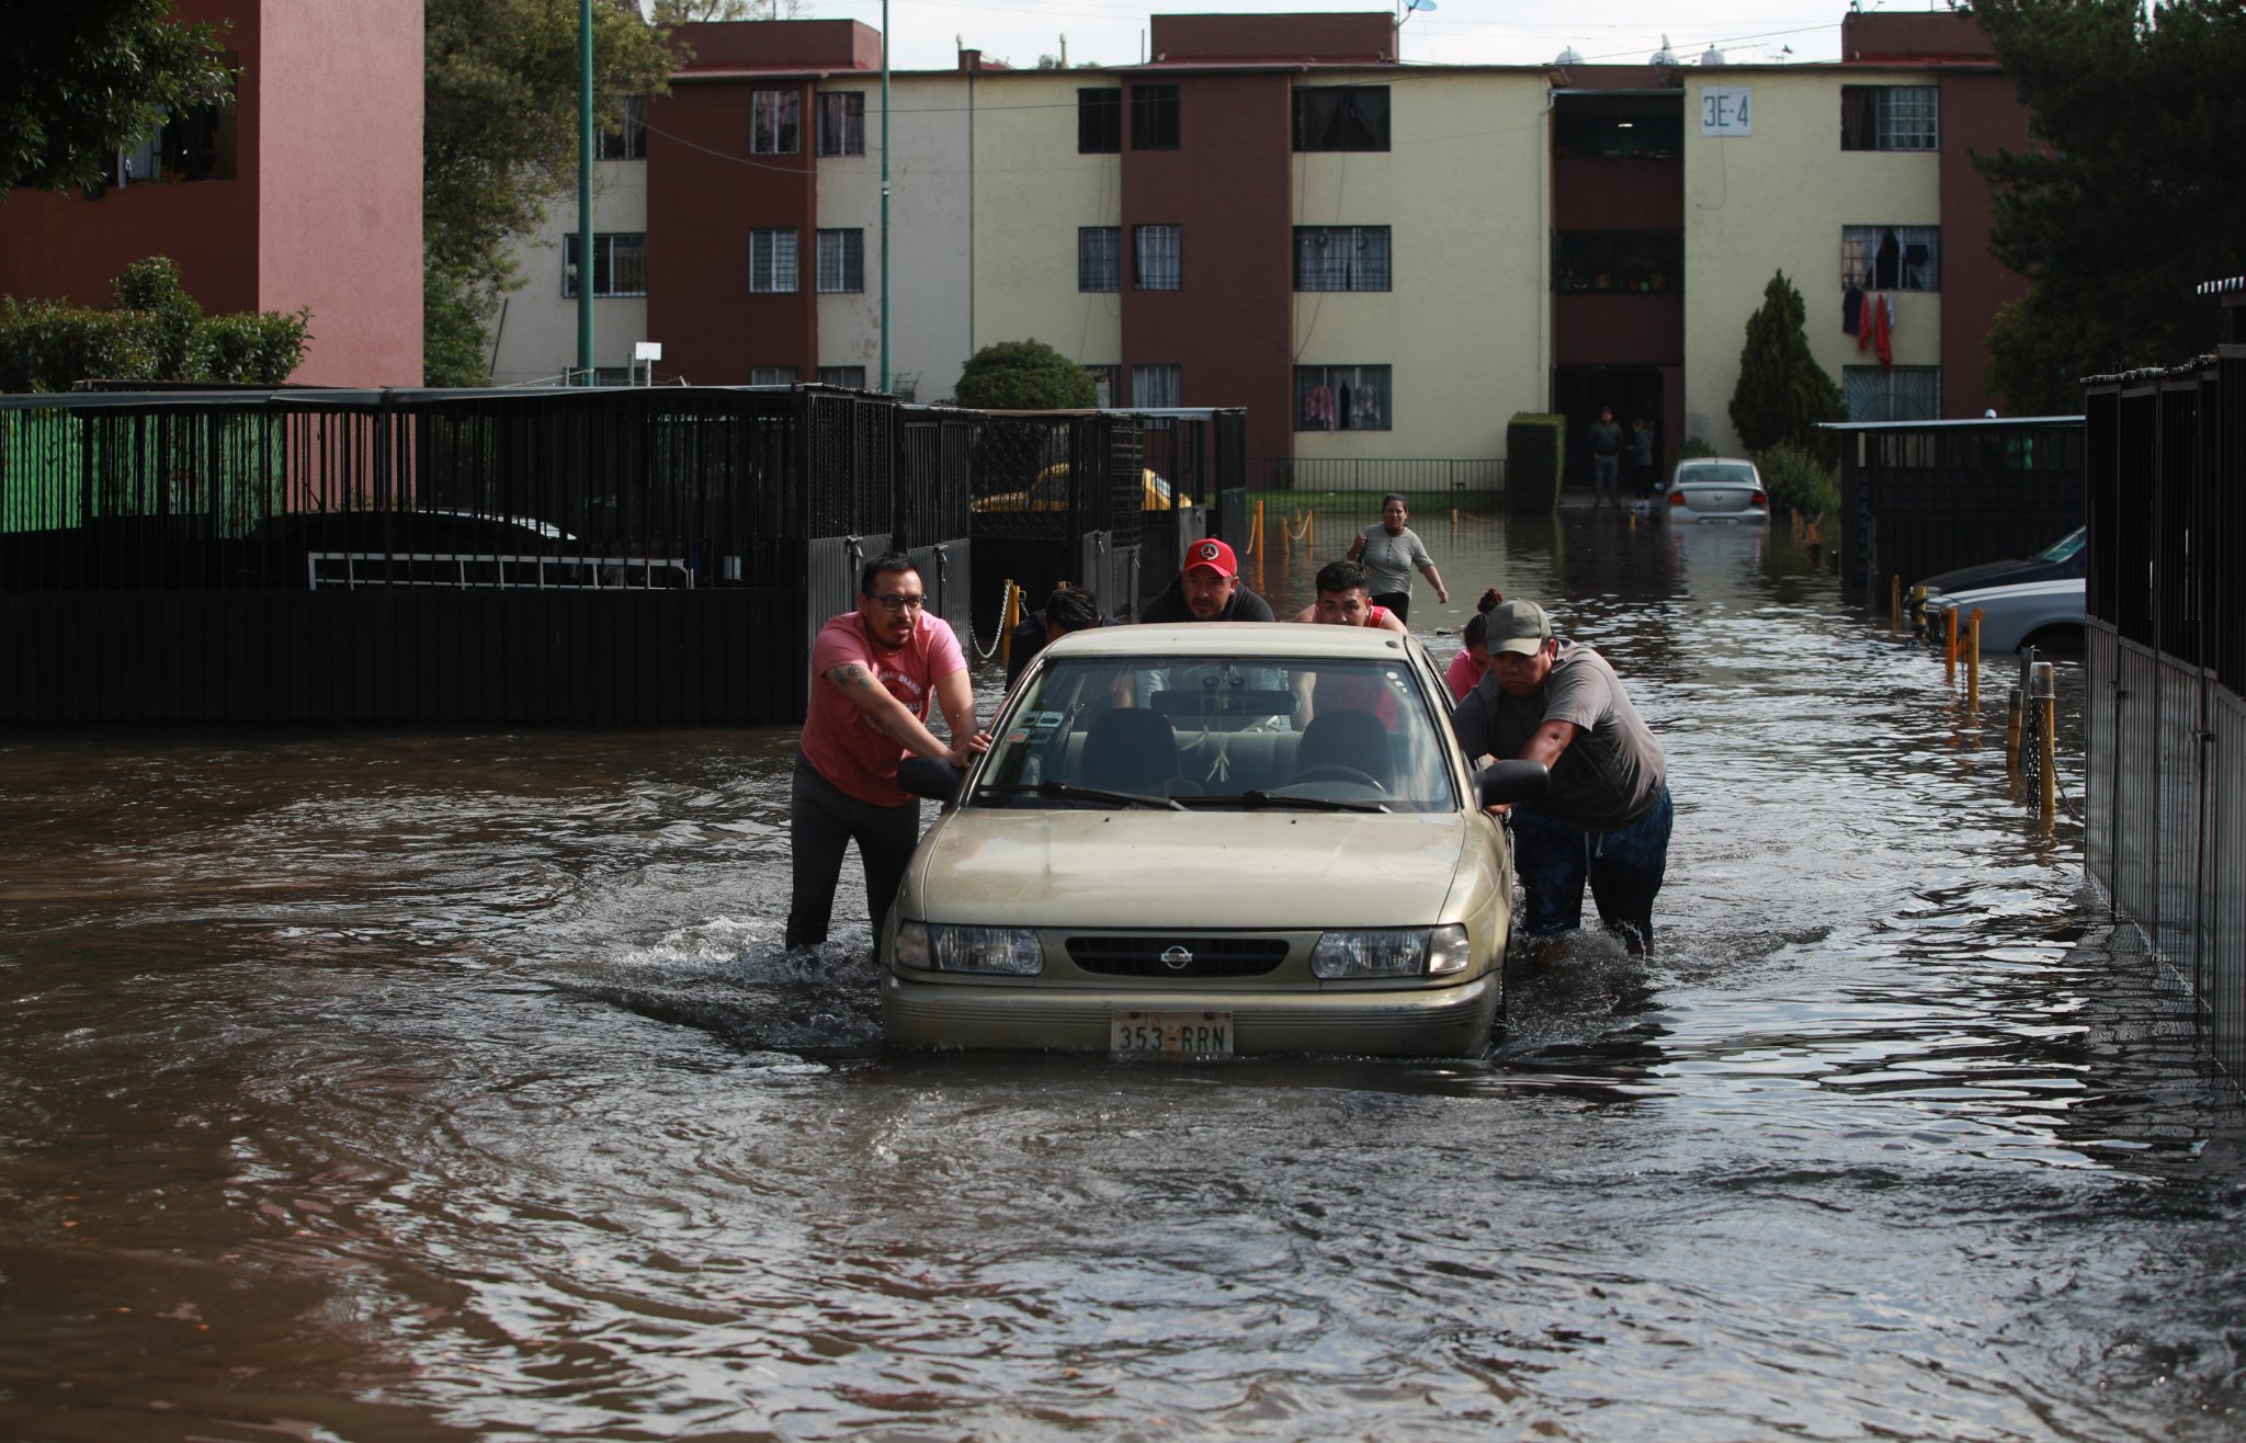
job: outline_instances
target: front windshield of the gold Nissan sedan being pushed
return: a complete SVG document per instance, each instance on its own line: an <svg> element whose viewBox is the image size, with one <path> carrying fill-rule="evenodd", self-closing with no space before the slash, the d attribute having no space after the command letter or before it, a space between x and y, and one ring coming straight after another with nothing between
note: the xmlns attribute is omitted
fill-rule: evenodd
<svg viewBox="0 0 2246 1443"><path fill-rule="evenodd" d="M1446 727L1402 655L1051 658L968 806L1449 812Z"/></svg>

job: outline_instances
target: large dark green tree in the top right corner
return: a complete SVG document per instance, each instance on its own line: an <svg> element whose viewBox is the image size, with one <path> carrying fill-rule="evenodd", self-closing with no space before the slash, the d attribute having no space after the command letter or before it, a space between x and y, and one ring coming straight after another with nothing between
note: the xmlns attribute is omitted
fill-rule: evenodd
<svg viewBox="0 0 2246 1443"><path fill-rule="evenodd" d="M1990 254L2028 278L1988 339L1988 384L2019 413L2073 413L2075 384L2212 348L2203 281L2246 233L2246 9L2237 0L1981 0L2028 105L2028 153L1976 155Z"/></svg>

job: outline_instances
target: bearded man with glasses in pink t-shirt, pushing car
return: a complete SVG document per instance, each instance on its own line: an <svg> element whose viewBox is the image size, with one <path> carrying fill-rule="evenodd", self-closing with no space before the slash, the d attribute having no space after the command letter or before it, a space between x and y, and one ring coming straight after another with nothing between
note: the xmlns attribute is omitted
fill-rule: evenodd
<svg viewBox="0 0 2246 1443"><path fill-rule="evenodd" d="M943 711L952 745L928 729L930 698ZM959 637L943 617L928 615L912 557L889 552L867 561L858 610L820 626L811 644L811 711L795 752L788 808L795 862L788 947L827 940L849 842L858 844L865 909L880 936L921 839L921 801L898 790L896 763L914 754L966 765L988 750L990 738L975 729L975 689Z"/></svg>

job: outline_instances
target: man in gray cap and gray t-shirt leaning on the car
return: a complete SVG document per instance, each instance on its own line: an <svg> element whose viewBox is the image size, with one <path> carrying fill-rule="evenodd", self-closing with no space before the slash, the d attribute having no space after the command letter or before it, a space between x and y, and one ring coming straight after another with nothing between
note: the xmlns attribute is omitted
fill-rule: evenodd
<svg viewBox="0 0 2246 1443"><path fill-rule="evenodd" d="M1451 714L1469 759L1523 756L1552 768L1552 792L1514 806L1514 871L1530 936L1583 925L1583 882L1599 922L1631 952L1653 949L1653 895L1669 866L1669 761L1622 678L1590 646L1552 635L1534 601L1489 613L1489 671Z"/></svg>

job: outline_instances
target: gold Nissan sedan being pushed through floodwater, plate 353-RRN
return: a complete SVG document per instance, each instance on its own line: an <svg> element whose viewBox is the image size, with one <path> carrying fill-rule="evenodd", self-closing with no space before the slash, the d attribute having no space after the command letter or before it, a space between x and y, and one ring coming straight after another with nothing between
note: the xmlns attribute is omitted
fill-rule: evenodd
<svg viewBox="0 0 2246 1443"><path fill-rule="evenodd" d="M898 1048L1471 1057L1505 990L1512 860L1417 640L1101 626L1031 664L880 936Z"/></svg>

